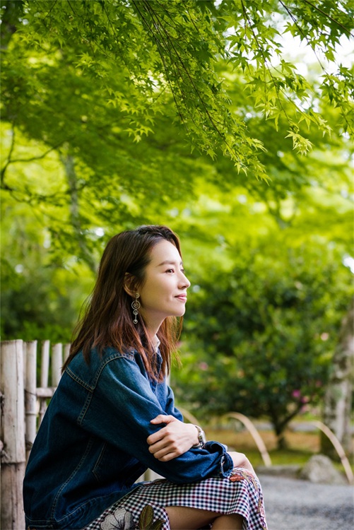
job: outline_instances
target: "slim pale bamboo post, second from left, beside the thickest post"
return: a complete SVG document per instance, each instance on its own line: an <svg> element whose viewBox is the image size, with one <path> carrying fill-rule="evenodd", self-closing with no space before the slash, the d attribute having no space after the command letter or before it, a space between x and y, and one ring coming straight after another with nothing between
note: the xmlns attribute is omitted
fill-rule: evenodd
<svg viewBox="0 0 354 530"><path fill-rule="evenodd" d="M37 341L25 343L25 445L30 456L37 432Z"/></svg>

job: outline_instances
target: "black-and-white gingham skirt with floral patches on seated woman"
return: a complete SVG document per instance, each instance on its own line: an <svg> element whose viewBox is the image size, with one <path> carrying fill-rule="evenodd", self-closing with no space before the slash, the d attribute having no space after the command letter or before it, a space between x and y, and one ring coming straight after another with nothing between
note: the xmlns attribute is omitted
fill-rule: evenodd
<svg viewBox="0 0 354 530"><path fill-rule="evenodd" d="M158 527L161 530L170 530L165 506L198 508L225 515L240 514L243 517L242 530L267 529L258 478L245 469L235 468L228 478L207 478L194 484L174 484L165 479L143 483L107 508L83 530L148 530L141 519L141 512L146 506L152 509L153 521L160 520ZM203 528L211 528L211 525Z"/></svg>

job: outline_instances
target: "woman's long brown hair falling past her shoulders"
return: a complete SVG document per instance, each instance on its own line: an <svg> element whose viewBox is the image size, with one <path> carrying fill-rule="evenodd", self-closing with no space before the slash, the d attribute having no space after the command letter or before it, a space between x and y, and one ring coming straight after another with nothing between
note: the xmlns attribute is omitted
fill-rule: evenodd
<svg viewBox="0 0 354 530"><path fill-rule="evenodd" d="M141 316L138 324L133 323L133 300L126 293L124 283L128 273L134 278L136 286L143 284L146 266L151 261L151 250L161 240L170 241L181 255L178 236L166 226L146 225L136 230L125 230L107 243L93 293L83 318L73 332L75 338L63 370L80 351L89 363L93 348L102 355L104 348L113 346L122 352L138 351L149 375L156 377L153 345ZM182 320L182 317L178 322L175 317L167 317L160 326L158 338L163 367L158 379L163 379L170 370L171 353L176 350Z"/></svg>

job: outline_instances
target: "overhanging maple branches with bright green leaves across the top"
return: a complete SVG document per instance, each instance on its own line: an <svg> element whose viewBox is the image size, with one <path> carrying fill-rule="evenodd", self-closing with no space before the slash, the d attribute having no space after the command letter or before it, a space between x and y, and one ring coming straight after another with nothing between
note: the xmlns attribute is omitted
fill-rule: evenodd
<svg viewBox="0 0 354 530"><path fill-rule="evenodd" d="M338 107L343 131L353 131L353 72L337 64L338 46L353 30L350 1L9 0L2 5L3 45L8 45L4 119L16 116L29 134L37 126L19 115L25 100L37 95L36 114L45 121L45 114L57 107L51 95L70 86L71 98L65 90L55 98L59 122L75 118L75 108L64 109L65 104L75 107L88 98L93 108L81 119L88 122L98 111L95 102L104 100L116 116L113 121L124 117L122 129L138 141L151 133L158 114L167 112L171 119L178 117L201 151L215 157L221 148L238 170L266 177L257 158L263 144L230 109L220 59L242 76L254 111L276 124L285 115L288 136L301 153L311 146L304 136L307 126L330 130L318 111L320 101ZM283 57L286 33L305 41L318 57L322 72L316 83ZM53 69L57 73L49 81L45 73ZM83 88L90 81L100 97ZM174 105L166 107L171 96ZM69 131L69 138L77 136L67 125L61 137L50 139L46 131L43 139L54 147L68 141ZM89 128L82 124L81 133Z"/></svg>

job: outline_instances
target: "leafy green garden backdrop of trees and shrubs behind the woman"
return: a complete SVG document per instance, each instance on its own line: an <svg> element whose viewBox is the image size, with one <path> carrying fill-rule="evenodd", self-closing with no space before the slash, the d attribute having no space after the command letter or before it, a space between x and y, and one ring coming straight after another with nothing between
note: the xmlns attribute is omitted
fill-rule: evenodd
<svg viewBox="0 0 354 530"><path fill-rule="evenodd" d="M352 454L353 7L261 4L1 2L1 337L70 342L107 240L168 225L177 404L255 465L232 411L273 464L338 461L313 421Z"/></svg>

